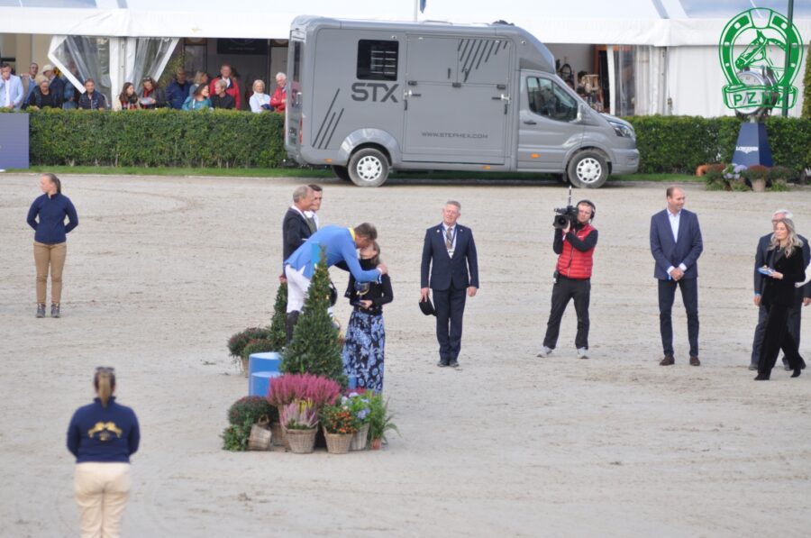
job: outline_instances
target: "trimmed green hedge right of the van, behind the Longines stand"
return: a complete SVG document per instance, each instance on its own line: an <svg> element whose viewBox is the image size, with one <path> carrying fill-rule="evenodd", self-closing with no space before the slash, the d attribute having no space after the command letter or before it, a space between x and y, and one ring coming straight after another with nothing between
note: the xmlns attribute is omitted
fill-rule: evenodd
<svg viewBox="0 0 811 538"><path fill-rule="evenodd" d="M734 117L633 116L625 118L636 130L639 171L693 173L699 165L730 162L741 121ZM811 165L811 119L766 119L771 154L776 165L799 174Z"/></svg>

